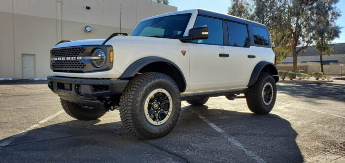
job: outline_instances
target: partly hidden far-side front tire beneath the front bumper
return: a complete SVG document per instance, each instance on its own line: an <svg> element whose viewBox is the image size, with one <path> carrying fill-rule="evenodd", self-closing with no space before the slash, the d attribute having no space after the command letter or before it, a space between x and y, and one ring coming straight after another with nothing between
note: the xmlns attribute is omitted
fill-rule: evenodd
<svg viewBox="0 0 345 163"><path fill-rule="evenodd" d="M74 104L72 102L60 99L62 108L66 111L69 116L79 119L79 120L95 120L100 118L106 113L105 109L100 108L93 108L93 109L86 109L82 108L81 106Z"/></svg>

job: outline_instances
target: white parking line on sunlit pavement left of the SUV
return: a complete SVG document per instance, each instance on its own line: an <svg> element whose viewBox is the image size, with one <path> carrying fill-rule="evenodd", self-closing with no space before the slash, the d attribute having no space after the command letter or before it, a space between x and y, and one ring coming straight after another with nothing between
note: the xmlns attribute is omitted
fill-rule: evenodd
<svg viewBox="0 0 345 163"><path fill-rule="evenodd" d="M23 131L20 132L19 134L14 135L14 136L11 136L11 137L7 138L6 140L0 142L0 149L1 149L3 146L6 146L6 145L10 144L11 142L13 142L16 138L21 137L21 136L24 136L24 135L27 134L29 131L31 131L31 130L35 129L36 127L38 127L40 124L43 124L43 123L49 121L50 119L55 118L56 116L58 116L59 114L61 114L61 113L63 113L63 112L64 112L64 110L60 110L59 112L57 112L57 113L55 113L55 114L53 114L53 115L50 115L49 117L47 117L47 118L45 118L45 119L39 121L39 122L36 123L35 125L32 125L31 127L27 128L27 129L25 129L25 130L23 130Z"/></svg>

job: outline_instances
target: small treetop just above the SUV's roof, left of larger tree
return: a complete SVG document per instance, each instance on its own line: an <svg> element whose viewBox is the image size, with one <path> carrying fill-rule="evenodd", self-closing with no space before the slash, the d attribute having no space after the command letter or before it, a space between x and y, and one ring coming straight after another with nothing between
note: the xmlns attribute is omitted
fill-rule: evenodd
<svg viewBox="0 0 345 163"><path fill-rule="evenodd" d="M228 7L228 14L240 18L249 19L251 7L246 0L231 0L231 7Z"/></svg>

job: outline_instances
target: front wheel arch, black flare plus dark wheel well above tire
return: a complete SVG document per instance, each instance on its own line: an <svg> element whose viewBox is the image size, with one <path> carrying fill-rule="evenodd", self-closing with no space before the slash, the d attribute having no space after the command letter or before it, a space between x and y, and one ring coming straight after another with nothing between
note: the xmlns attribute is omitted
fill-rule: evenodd
<svg viewBox="0 0 345 163"><path fill-rule="evenodd" d="M154 68L159 66L159 68ZM134 77L137 73L143 72L160 72L164 73L176 82L180 92L186 90L186 80L181 69L172 61L158 57L148 56L133 62L120 76L120 79L128 79Z"/></svg>

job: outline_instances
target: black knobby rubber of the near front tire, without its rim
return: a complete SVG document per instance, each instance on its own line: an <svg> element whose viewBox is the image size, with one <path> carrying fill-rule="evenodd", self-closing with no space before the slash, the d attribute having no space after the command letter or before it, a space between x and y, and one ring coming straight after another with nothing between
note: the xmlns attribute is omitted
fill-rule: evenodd
<svg viewBox="0 0 345 163"><path fill-rule="evenodd" d="M164 128L164 132L160 134L152 134L144 129L143 124L139 121L139 118L143 111L143 104L139 104L140 99L145 97L146 88L149 84L155 81L168 81L173 86L174 92L169 92L171 96L175 94L175 100L173 101L173 108L177 109L172 112L169 118L173 118L171 123L167 124ZM149 93L149 92L148 92ZM129 81L123 94L120 98L120 117L124 127L130 132L132 136L140 139L154 139L166 136L171 132L177 123L181 109L181 96L178 90L177 84L169 76L162 73L142 73ZM146 119L145 119L146 120ZM169 121L169 120L168 120ZM167 122L168 122L167 121ZM165 122L165 124L167 123ZM149 126L149 125L148 125Z"/></svg>

